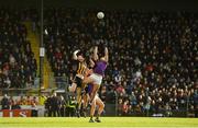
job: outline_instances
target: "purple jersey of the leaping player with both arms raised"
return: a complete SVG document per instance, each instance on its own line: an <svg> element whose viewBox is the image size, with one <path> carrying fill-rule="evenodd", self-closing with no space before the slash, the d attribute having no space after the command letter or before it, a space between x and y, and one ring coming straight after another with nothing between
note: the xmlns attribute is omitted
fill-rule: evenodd
<svg viewBox="0 0 198 128"><path fill-rule="evenodd" d="M100 75L105 75L106 68L107 68L106 61L97 61L94 68L94 72Z"/></svg>

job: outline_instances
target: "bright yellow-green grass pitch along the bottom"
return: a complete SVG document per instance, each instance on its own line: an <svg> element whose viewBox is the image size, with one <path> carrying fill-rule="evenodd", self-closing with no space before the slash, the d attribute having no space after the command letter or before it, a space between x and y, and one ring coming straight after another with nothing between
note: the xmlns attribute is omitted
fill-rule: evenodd
<svg viewBox="0 0 198 128"><path fill-rule="evenodd" d="M88 123L89 118L37 117L0 118L0 128L22 127L197 127L198 118L154 118L154 117L101 117L102 123Z"/></svg>

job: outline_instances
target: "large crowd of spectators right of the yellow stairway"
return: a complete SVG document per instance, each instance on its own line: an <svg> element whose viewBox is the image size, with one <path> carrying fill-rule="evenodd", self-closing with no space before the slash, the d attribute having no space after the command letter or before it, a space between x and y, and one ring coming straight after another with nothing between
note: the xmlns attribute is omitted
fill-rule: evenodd
<svg viewBox="0 0 198 128"><path fill-rule="evenodd" d="M198 13L103 10L106 18L98 20L97 11L44 11L44 43L55 77L69 74L74 50L105 45L110 59L101 96L109 102L109 93L118 94L119 115L198 109Z"/></svg>

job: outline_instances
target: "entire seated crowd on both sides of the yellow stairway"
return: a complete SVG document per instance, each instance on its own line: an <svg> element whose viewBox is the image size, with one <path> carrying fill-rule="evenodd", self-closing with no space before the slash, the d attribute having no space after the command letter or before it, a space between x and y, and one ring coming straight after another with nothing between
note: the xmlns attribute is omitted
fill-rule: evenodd
<svg viewBox="0 0 198 128"><path fill-rule="evenodd" d="M100 96L119 116L198 110L198 13L45 8L44 47L54 77L70 78L72 54L109 48ZM37 33L36 9L0 9L0 90L31 88L37 65L24 21ZM57 79L56 81L58 81Z"/></svg>

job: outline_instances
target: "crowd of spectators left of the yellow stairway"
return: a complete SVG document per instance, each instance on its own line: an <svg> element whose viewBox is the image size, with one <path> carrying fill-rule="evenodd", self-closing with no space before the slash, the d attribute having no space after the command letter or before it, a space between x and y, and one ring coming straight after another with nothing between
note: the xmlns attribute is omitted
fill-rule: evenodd
<svg viewBox="0 0 198 128"><path fill-rule="evenodd" d="M0 89L31 88L36 77L36 60L23 22L34 21L29 10L0 8Z"/></svg>

